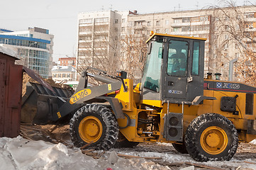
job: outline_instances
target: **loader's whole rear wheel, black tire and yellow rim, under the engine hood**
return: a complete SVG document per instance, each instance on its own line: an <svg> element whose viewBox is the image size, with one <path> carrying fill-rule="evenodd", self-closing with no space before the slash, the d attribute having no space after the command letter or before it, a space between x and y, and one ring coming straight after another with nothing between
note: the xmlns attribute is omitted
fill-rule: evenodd
<svg viewBox="0 0 256 170"><path fill-rule="evenodd" d="M185 145L196 161L229 161L238 148L238 132L225 116L207 113L191 121Z"/></svg>

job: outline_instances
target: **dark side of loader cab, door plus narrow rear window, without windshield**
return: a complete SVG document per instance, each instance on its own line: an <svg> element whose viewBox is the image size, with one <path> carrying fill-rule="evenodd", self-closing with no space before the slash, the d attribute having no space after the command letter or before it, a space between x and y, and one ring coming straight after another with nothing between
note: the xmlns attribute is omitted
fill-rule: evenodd
<svg viewBox="0 0 256 170"><path fill-rule="evenodd" d="M162 66L162 99L192 102L204 96L204 40L170 38Z"/></svg>

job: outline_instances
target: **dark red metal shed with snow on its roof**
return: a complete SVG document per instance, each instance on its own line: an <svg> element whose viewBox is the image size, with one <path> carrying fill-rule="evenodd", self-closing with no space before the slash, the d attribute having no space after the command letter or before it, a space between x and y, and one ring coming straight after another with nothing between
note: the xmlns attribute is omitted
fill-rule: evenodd
<svg viewBox="0 0 256 170"><path fill-rule="evenodd" d="M21 125L22 70L16 52L0 46L0 137L16 137Z"/></svg>

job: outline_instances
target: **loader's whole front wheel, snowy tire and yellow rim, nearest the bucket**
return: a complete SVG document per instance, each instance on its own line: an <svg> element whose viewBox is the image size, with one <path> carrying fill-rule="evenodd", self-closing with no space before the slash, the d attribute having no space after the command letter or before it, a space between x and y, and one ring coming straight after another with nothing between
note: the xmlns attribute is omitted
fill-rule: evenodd
<svg viewBox="0 0 256 170"><path fill-rule="evenodd" d="M91 142L89 147L111 149L118 138L115 115L106 107L91 104L79 108L69 122L69 134L75 147Z"/></svg>

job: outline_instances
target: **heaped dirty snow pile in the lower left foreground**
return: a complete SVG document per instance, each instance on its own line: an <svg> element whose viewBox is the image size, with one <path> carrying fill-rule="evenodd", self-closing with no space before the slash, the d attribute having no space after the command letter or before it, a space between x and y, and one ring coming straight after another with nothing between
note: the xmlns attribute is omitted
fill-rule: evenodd
<svg viewBox="0 0 256 170"><path fill-rule="evenodd" d="M108 152L100 159L59 143L0 138L0 169L169 169L145 159L124 159Z"/></svg>

